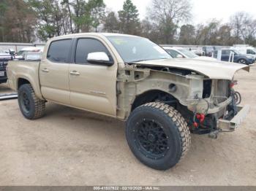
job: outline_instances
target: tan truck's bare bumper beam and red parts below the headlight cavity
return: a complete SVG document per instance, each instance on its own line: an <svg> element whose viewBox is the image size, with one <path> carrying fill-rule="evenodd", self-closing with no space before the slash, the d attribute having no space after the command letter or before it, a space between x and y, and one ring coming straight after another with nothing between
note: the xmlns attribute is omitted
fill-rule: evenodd
<svg viewBox="0 0 256 191"><path fill-rule="evenodd" d="M219 104L208 104L210 100L189 100L188 108L194 114L190 115L189 125L192 133L208 134L212 139L217 139L219 133L233 132L249 113L249 105L237 106L233 96ZM204 114L203 122L196 117ZM195 125L196 124L196 125Z"/></svg>

